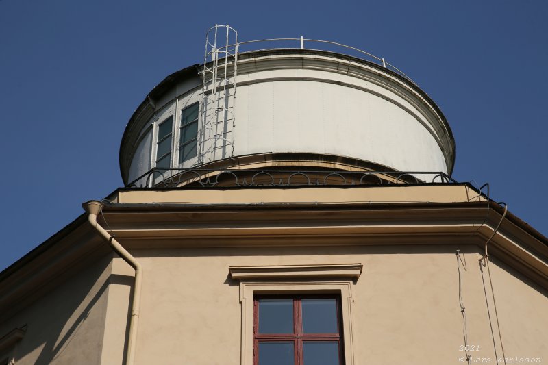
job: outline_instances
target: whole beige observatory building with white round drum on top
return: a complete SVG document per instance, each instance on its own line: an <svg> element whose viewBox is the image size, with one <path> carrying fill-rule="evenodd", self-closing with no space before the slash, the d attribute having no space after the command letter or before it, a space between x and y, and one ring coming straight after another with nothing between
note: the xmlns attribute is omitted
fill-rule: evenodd
<svg viewBox="0 0 548 365"><path fill-rule="evenodd" d="M0 365L548 362L548 239L399 69L292 41L149 92L124 187L0 273Z"/></svg>

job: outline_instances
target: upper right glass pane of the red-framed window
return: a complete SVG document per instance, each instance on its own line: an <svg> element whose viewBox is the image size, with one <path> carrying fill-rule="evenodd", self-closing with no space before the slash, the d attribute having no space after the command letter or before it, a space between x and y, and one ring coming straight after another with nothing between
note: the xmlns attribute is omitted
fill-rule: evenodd
<svg viewBox="0 0 548 365"><path fill-rule="evenodd" d="M304 333L338 333L336 299L303 299Z"/></svg>

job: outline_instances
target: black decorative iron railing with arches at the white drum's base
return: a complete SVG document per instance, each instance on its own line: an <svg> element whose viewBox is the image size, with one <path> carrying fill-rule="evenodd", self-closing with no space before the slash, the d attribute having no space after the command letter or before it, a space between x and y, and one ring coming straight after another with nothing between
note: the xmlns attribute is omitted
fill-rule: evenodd
<svg viewBox="0 0 548 365"><path fill-rule="evenodd" d="M127 188L454 184L443 172L152 168Z"/></svg>

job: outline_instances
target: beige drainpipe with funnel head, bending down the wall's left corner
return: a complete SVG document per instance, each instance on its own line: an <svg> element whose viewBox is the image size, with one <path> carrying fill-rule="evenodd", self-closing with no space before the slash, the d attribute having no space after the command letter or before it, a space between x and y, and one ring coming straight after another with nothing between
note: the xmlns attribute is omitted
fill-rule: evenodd
<svg viewBox="0 0 548 365"><path fill-rule="evenodd" d="M140 296L141 296L141 282L142 282L142 268L141 265L135 260L126 249L119 244L118 241L112 235L110 235L99 223L97 223L97 214L101 212L101 202L99 201L87 201L82 204L82 207L88 214L88 221L94 227L97 232L108 242L110 247L114 249L122 260L127 262L129 266L135 269L135 284L132 300L132 318L129 321L129 341L127 342L127 355L125 364L133 365L135 360L135 347L137 340L137 327L139 321L139 308L140 308Z"/></svg>

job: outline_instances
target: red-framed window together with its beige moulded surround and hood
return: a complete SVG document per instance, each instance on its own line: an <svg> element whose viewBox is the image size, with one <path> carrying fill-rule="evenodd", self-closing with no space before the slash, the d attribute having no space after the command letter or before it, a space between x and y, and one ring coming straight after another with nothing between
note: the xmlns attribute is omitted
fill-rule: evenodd
<svg viewBox="0 0 548 365"><path fill-rule="evenodd" d="M312 265L276 265L276 266L229 266L229 274L233 280L240 282L240 303L242 310L242 342L241 342L241 365L268 365L268 364L284 364L277 359L273 362L259 362L259 356L264 355L265 351L269 351L269 346L275 347L276 344L281 344L285 351L292 351L294 357L290 364L323 364L314 362L308 358L310 351L314 352L329 351L338 347L338 362L334 364L340 365L356 365L360 364L358 359L354 358L353 351L353 336L352 336L352 287L362 274L362 264L312 264ZM293 331L290 333L264 333L263 327L259 327L263 322L259 318L261 300L287 300L286 311L291 312ZM323 308L323 312L327 314L335 313L337 319L333 322L327 320L323 323L323 319L319 322L322 327L316 327L316 331L326 331L325 333L314 332L309 327L307 318L314 318L314 311L308 312L307 307L314 304L314 301L309 299L325 299L325 302L320 301L318 307ZM304 301L304 304L303 304ZM256 304L257 303L257 304ZM266 302L265 302L266 303ZM271 302L272 303L272 302ZM289 303L292 303L290 306ZM336 310L333 308L333 303L336 303ZM273 304L276 307L276 303ZM283 305L280 310L283 313ZM304 308L304 309L303 309ZM295 312L297 311L297 312ZM271 311L272 312L272 311ZM316 317L318 313L316 311ZM262 314L265 310L262 311ZM268 310L266 310L268 313ZM312 313L312 317L309 314ZM268 316L266 316L268 320ZM328 318L322 315L321 318ZM276 318L274 316L274 318ZM329 325L330 323L330 325ZM334 332L334 323L337 330ZM295 324L299 330L295 329ZM268 328L268 323L266 323ZM329 326L331 329L329 329ZM272 330L273 331L273 330ZM276 329L275 331L280 331ZM284 329L282 332L290 330ZM266 345L260 345L260 342L269 342ZM283 346L285 342L285 346ZM314 342L314 343L311 343ZM316 342L332 342L324 346ZM336 344L333 344L335 342ZM255 347L263 347L261 349ZM306 346L305 346L306 345ZM329 349L331 347L331 349ZM282 349L283 351L283 349ZM277 352L277 351L271 351ZM283 352L282 352L283 353ZM302 357L299 357L302 356ZM323 356L323 355L322 355ZM324 358L324 357L322 357ZM327 355L325 356L327 358ZM266 361L266 360L265 360ZM299 363L300 361L300 363ZM304 361L304 364L303 364ZM308 362L307 362L308 361ZM331 364L331 363L327 363Z"/></svg>

